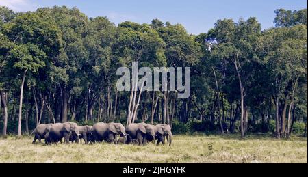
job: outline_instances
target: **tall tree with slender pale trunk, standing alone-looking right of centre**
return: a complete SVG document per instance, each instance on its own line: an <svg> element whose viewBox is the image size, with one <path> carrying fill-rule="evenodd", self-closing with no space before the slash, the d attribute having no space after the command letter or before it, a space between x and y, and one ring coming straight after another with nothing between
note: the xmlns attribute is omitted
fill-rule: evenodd
<svg viewBox="0 0 308 177"><path fill-rule="evenodd" d="M247 21L240 19L238 23L223 20L216 23L214 34L211 35L216 42L212 55L217 59L227 59L235 68L233 77L237 78L239 85L241 135L244 137L248 123L248 107L244 103L244 98L248 92L252 70L257 62L255 49L261 35L261 26L256 18L249 18Z"/></svg>

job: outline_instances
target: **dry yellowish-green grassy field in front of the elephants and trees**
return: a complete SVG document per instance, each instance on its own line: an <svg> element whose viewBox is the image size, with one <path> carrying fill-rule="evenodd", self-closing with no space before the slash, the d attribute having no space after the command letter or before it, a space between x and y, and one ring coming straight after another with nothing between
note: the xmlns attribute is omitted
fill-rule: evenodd
<svg viewBox="0 0 308 177"><path fill-rule="evenodd" d="M307 163L307 138L177 135L172 146L31 144L0 139L0 163Z"/></svg>

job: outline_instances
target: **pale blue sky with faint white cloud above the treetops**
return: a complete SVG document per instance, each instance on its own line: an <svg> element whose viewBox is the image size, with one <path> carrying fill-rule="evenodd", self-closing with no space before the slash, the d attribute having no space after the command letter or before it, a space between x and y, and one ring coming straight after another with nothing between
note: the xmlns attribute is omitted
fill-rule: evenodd
<svg viewBox="0 0 308 177"><path fill-rule="evenodd" d="M107 16L116 25L123 21L151 23L155 18L172 24L181 23L188 33L206 33L218 19L257 17L263 29L273 27L274 10L301 10L306 0L0 0L15 12L41 7L66 5L77 7L88 17Z"/></svg>

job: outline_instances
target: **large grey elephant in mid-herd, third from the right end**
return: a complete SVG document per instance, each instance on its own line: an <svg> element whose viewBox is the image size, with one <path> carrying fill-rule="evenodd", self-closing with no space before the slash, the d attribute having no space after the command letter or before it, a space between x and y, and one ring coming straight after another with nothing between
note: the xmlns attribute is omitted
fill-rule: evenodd
<svg viewBox="0 0 308 177"><path fill-rule="evenodd" d="M91 129L92 139L96 142L107 141L109 143L118 144L116 136L120 135L126 140L127 135L125 133L125 127L120 123L99 122L94 124Z"/></svg>

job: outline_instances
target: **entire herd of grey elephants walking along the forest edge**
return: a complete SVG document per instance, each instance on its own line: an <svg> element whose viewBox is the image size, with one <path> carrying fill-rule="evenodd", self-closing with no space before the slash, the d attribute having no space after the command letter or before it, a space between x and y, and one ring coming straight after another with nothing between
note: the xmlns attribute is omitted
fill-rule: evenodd
<svg viewBox="0 0 308 177"><path fill-rule="evenodd" d="M108 142L112 144L138 144L146 145L149 141L155 142L157 145L165 144L165 138L169 146L172 143L172 132L170 125L157 124L151 125L146 123L129 124L126 128L120 123L104 123L99 122L93 126L79 126L74 122L56 123L56 124L40 124L34 131L33 144L41 139L45 140L45 144L62 143L62 139L66 144L70 142L79 143L81 139L85 144L97 142Z"/></svg>

